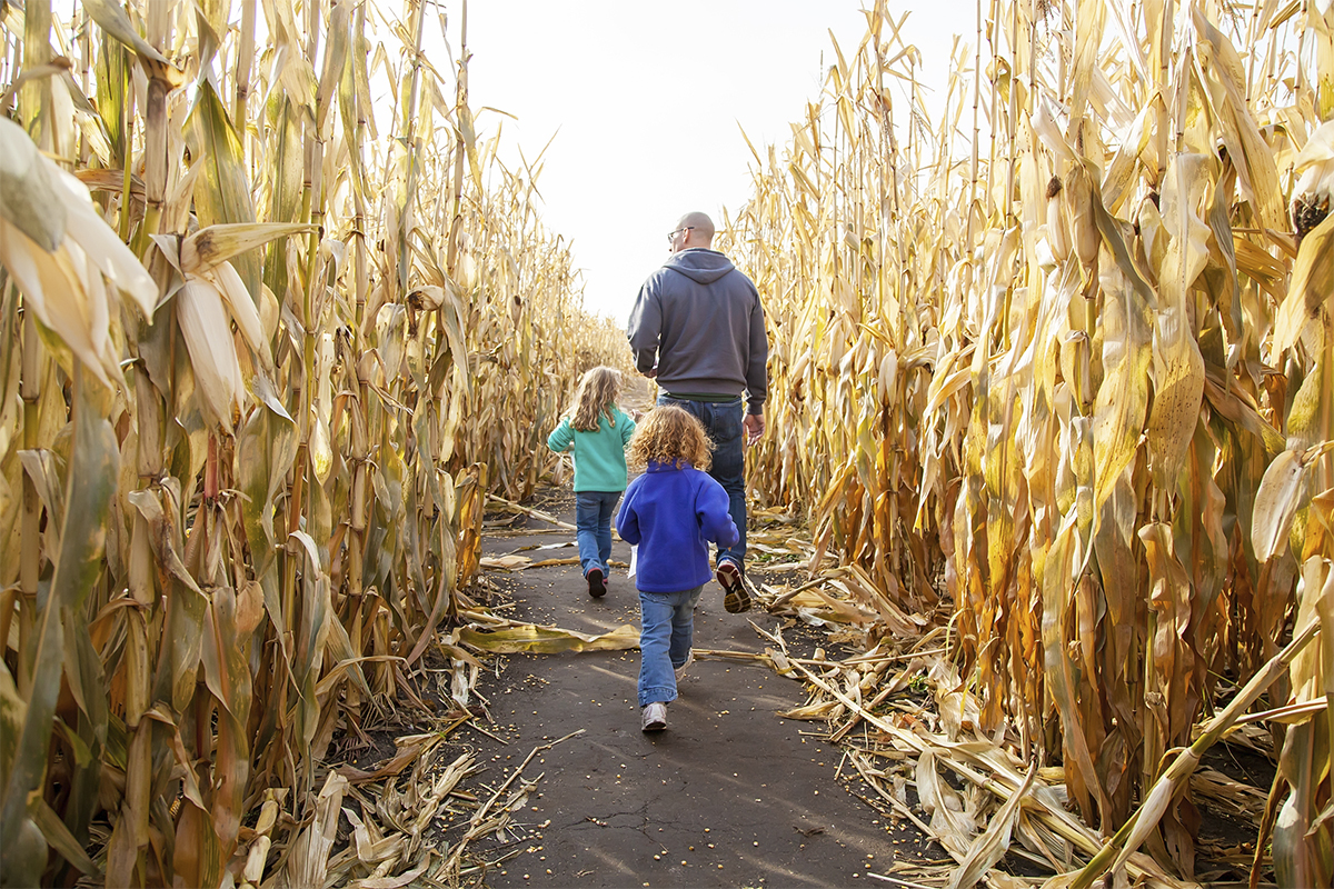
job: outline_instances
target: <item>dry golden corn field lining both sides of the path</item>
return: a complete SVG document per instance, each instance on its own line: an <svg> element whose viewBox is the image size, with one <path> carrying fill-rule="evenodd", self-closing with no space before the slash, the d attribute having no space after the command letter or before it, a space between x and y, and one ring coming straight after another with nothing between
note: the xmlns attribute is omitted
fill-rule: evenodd
<svg viewBox="0 0 1334 889"><path fill-rule="evenodd" d="M466 5L399 13L0 0L7 885L324 882L321 758L464 669L487 493L624 364L476 135ZM951 741L1059 776L1103 848L1053 885L1190 880L1246 721L1253 878L1334 885L1334 8L979 0L935 121L904 16L724 227L751 485L868 646L947 628Z"/></svg>

